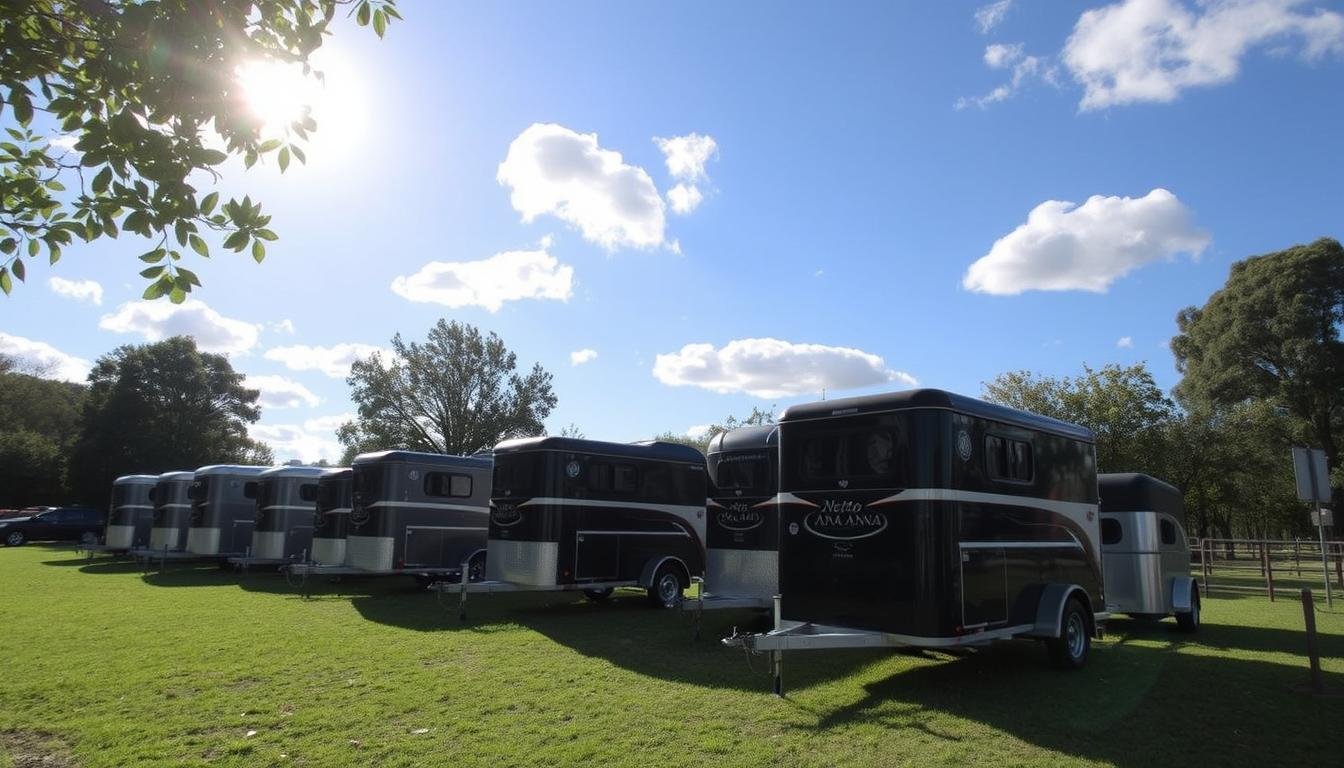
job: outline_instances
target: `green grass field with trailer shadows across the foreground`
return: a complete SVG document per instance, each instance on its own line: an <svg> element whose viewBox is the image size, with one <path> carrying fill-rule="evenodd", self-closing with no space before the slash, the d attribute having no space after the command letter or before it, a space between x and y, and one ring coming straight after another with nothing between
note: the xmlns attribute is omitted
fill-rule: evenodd
<svg viewBox="0 0 1344 768"><path fill-rule="evenodd" d="M336 592L336 588L341 593ZM304 600L274 576L0 550L0 767L1339 765L1301 607L1214 599L1193 638L1111 623L1078 673L1035 643L961 658L762 659L641 596L488 596L466 625L407 582ZM1344 691L1344 607L1318 615ZM46 761L43 761L46 760Z"/></svg>

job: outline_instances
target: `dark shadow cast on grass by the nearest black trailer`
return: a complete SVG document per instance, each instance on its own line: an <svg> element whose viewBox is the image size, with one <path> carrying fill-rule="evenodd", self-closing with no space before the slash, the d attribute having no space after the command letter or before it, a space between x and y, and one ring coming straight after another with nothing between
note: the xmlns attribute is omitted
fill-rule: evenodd
<svg viewBox="0 0 1344 768"><path fill-rule="evenodd" d="M1204 643L1202 632L1199 646L1172 638L1103 643L1078 671L1046 668L1034 643L1000 643L957 662L919 664L870 683L857 701L813 712L813 728L911 729L953 740L939 728L941 716L950 714L1028 744L1122 767L1238 765L1247 755L1278 756L1294 765L1337 764L1332 733L1344 716L1344 698L1298 693L1306 681L1305 659L1278 664L1207 647L1239 635L1257 650L1273 648L1290 633L1212 629L1211 642ZM1250 638L1261 632L1262 638ZM788 679L788 666L785 674ZM1327 686L1344 690L1344 675L1325 677Z"/></svg>

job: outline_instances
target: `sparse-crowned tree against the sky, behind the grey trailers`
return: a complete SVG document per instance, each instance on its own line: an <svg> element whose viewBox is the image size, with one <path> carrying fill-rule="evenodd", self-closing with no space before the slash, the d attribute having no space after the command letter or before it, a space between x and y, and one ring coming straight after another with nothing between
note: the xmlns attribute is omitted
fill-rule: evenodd
<svg viewBox="0 0 1344 768"><path fill-rule="evenodd" d="M544 434L555 408L551 374L534 364L515 373L517 356L493 332L439 320L425 343L392 336L392 355L375 352L351 366L356 421L336 432L341 463L387 448L473 453L509 437Z"/></svg>

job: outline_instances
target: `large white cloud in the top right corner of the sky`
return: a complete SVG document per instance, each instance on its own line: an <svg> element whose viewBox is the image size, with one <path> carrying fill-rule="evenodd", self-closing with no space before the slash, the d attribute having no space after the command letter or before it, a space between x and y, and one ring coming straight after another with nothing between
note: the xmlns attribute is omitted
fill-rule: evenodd
<svg viewBox="0 0 1344 768"><path fill-rule="evenodd" d="M1083 110L1169 102L1188 87L1231 82L1266 43L1301 46L1306 59L1344 52L1344 16L1305 0L1126 0L1083 12L1063 61L1085 89Z"/></svg>

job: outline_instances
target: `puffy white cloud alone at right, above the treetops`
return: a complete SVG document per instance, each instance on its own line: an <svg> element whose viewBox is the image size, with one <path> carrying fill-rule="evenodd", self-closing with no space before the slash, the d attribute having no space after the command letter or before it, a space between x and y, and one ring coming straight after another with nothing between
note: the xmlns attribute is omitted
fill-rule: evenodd
<svg viewBox="0 0 1344 768"><path fill-rule="evenodd" d="M1047 200L999 238L961 284L978 293L1105 292L1130 270L1179 253L1199 256L1208 234L1167 190L1142 198L1094 195L1082 206Z"/></svg>

